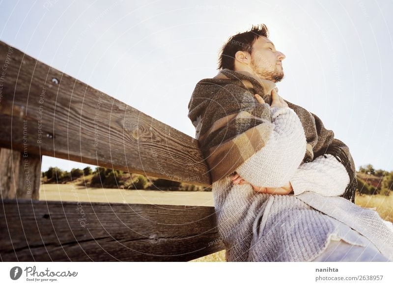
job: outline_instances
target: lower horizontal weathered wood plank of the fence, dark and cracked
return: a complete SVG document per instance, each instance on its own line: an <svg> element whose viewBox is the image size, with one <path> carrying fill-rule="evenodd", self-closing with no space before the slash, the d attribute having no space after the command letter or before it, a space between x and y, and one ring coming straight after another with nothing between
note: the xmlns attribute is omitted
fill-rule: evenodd
<svg viewBox="0 0 393 286"><path fill-rule="evenodd" d="M224 249L214 207L3 200L2 261L189 261Z"/></svg>

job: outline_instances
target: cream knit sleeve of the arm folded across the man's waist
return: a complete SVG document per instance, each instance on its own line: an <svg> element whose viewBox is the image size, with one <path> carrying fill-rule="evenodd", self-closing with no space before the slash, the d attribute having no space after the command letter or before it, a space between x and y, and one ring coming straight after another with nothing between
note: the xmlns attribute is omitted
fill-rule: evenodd
<svg viewBox="0 0 393 286"><path fill-rule="evenodd" d="M310 191L326 197L340 196L349 184L349 175L335 156L326 154L302 164L290 182L295 195Z"/></svg>

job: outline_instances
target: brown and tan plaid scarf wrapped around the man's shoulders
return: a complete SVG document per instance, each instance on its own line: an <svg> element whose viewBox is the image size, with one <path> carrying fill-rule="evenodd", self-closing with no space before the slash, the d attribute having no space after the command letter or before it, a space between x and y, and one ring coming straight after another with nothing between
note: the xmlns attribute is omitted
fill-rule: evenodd
<svg viewBox="0 0 393 286"><path fill-rule="evenodd" d="M271 91L275 84L248 72L221 70L212 79L199 81L188 104L188 117L209 167L212 183L232 174L269 140ZM260 104L254 94L265 101ZM347 170L350 183L341 197L355 201L356 170L348 146L334 138L322 121L306 109L284 100L300 118L307 149L303 163L332 154Z"/></svg>

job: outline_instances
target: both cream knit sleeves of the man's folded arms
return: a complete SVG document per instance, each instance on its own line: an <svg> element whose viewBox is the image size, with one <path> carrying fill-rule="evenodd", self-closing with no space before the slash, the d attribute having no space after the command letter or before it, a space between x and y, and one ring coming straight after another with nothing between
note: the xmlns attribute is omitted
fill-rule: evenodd
<svg viewBox="0 0 393 286"><path fill-rule="evenodd" d="M302 164L306 137L299 117L289 107L271 108L274 129L266 145L236 172L256 186L280 187L291 182L295 195L313 191L324 196L342 195L349 183L344 166L331 155Z"/></svg>

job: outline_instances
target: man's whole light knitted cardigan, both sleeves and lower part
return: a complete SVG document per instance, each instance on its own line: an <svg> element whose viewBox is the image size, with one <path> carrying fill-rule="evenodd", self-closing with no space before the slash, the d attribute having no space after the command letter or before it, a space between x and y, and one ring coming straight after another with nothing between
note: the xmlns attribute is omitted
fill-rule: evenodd
<svg viewBox="0 0 393 286"><path fill-rule="evenodd" d="M297 168L303 156L299 149L305 148L302 124L290 108L271 108L271 115L270 140L236 172L257 186L290 180L295 196L256 193L250 184L233 185L230 176L214 182L227 261L311 261L331 239L365 247L373 243L393 259L393 231L379 215L334 197L349 181L342 164L328 154Z"/></svg>

